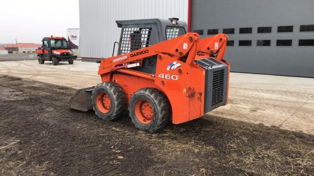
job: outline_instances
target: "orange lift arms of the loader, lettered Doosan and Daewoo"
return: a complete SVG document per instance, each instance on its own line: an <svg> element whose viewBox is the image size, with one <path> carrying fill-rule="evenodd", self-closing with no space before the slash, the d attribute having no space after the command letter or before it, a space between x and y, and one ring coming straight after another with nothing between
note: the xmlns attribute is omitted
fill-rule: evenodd
<svg viewBox="0 0 314 176"><path fill-rule="evenodd" d="M98 74L120 71L140 77L154 79L155 75L142 73L128 68L140 66L144 58L166 54L175 59L185 58L185 64L192 66L197 59L197 52L202 52L221 61L226 50L227 35L218 34L200 40L197 33L189 32L177 38L141 48L130 53L109 57L101 61ZM214 56L217 54L216 56Z"/></svg>

